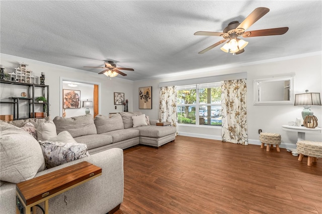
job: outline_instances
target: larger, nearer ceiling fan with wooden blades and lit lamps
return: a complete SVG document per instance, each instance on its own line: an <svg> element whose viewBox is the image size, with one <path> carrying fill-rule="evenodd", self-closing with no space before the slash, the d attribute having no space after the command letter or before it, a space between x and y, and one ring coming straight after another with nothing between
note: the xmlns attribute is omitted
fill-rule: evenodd
<svg viewBox="0 0 322 214"><path fill-rule="evenodd" d="M243 36L247 37L257 37L257 36L273 36L273 35L282 35L288 31L288 27L283 28L271 28L263 29L256 31L247 31L255 22L261 19L265 14L270 11L268 8L256 8L243 22L239 23L238 21L233 21L228 24L228 26L223 30L223 32L207 32L207 31L198 31L194 35L199 36L222 36L224 39L209 46L208 48L199 52L203 54L212 48L226 42L220 49L226 53L240 54L245 50L248 42L238 39L238 37Z"/></svg>

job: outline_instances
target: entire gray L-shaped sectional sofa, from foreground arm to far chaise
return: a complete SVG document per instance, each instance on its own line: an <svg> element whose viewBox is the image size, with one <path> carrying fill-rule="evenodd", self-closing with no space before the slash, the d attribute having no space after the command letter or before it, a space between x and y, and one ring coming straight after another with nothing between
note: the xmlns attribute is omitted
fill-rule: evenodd
<svg viewBox="0 0 322 214"><path fill-rule="evenodd" d="M116 211L123 201L122 149L138 144L159 147L175 140L176 127L155 126L157 121L149 121L145 116L145 122L142 123L142 116L141 113L124 112L111 114L110 117L99 115L95 119L92 115L84 115L73 118L55 117L53 121L49 117L9 123L0 121L0 214L16 213L16 183L82 161L101 167L102 175L49 199L49 213ZM34 130L29 130L27 123L31 123ZM27 130L23 129L26 127ZM74 145L86 144L85 157L47 169L45 162L48 159L44 157L40 146L42 144L38 141L50 142L66 133ZM67 204L64 202L65 196Z"/></svg>

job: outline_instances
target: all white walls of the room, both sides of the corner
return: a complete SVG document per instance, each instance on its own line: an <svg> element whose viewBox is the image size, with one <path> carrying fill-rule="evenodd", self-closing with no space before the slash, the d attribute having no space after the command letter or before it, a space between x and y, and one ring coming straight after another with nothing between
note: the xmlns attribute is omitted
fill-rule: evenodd
<svg viewBox="0 0 322 214"><path fill-rule="evenodd" d="M60 78L75 82L89 82L99 84L99 114L107 115L112 112L122 112L123 106L117 105L114 109L113 92L124 92L125 99L129 100L129 112L141 111L150 116L151 119L158 119L159 109L159 82L175 81L181 79L192 79L197 77L215 76L221 74L247 72L247 108L248 108L248 134L249 142L259 144L258 129L263 132L280 133L282 136L282 144L286 146L295 146L297 134L295 132L287 132L282 130L282 125L287 125L290 121L295 121L301 116L302 106L294 105L253 105L253 80L294 75L294 93L303 93L305 89L311 92L322 93L322 62L321 53L313 53L307 56L294 56L290 59L270 60L265 62L249 63L236 67L208 68L206 70L187 71L186 75L176 75L159 79L145 79L140 81L129 81L114 77L109 80L104 75L67 68L58 65L52 65L44 62L38 62L25 58L19 58L1 54L0 63L7 69L5 72L12 72L14 67L24 62L29 64L29 69L40 75L41 72L46 73L45 83L50 86L50 116L61 116L60 101L61 88ZM234 67L233 67L234 66ZM12 68L9 71L8 68ZM161 72L161 71L160 71ZM139 110L138 108L138 88L144 86L152 86L152 110ZM60 88L61 87L61 88ZM12 92L6 88L6 84L1 85L1 100L11 96ZM21 89L16 90L21 93ZM6 108L1 108L1 114ZM317 117L319 127L322 125L322 108L321 106L312 106L312 111ZM10 113L12 114L12 113ZM68 114L67 114L68 117ZM218 127L204 126L178 126L179 134L187 136L195 136L209 139L221 140L221 129ZM307 140L322 141L322 134L306 134ZM282 146L283 146L282 145Z"/></svg>

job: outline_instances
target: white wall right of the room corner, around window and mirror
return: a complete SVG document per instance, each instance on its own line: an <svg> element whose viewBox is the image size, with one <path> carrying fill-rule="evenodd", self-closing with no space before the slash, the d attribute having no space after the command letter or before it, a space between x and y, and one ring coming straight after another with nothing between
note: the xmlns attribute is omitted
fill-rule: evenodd
<svg viewBox="0 0 322 214"><path fill-rule="evenodd" d="M174 76L160 79L145 79L134 82L133 109L138 111L138 88L143 86L152 86L152 110L140 110L152 119L158 119L159 107L159 82L168 82L181 79L193 79L197 77L215 76L229 73L247 72L247 113L248 113L248 134L249 143L259 144L258 130L263 132L279 133L282 136L281 147L295 147L297 141L296 132L287 132L282 129L282 125L287 125L290 121L295 121L301 117L302 106L294 105L253 105L253 81L255 79L294 76L294 94L304 93L305 89L311 92L322 93L322 62L321 53L312 53L311 55L293 56L290 59L270 60L257 63L249 63L239 67L231 68L213 68L212 71L188 72L189 75ZM322 108L321 106L312 106L312 111L317 117L319 127L322 126ZM180 135L194 136L209 139L221 140L221 129L218 127L189 126L179 125ZM307 140L322 141L322 134L306 134Z"/></svg>

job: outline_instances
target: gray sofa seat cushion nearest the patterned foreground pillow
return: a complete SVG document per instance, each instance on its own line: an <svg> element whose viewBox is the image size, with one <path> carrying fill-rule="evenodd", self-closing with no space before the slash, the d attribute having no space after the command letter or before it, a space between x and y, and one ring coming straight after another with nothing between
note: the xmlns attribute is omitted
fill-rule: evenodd
<svg viewBox="0 0 322 214"><path fill-rule="evenodd" d="M74 138L77 143L84 143L87 149L95 149L113 143L112 136L109 135L85 135Z"/></svg>

